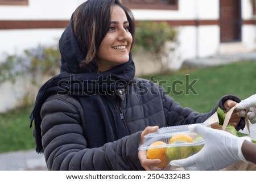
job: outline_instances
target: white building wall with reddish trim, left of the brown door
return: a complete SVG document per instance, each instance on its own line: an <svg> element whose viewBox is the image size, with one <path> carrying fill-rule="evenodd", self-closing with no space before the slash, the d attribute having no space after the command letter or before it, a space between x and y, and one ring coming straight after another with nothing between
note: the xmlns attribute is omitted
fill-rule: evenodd
<svg viewBox="0 0 256 182"><path fill-rule="evenodd" d="M216 21L217 0L180 0L178 10L133 10L136 20L166 20L179 28L181 60L217 53L218 25L195 26L195 20ZM187 26L186 26L187 24ZM210 35L210 36L209 36Z"/></svg>

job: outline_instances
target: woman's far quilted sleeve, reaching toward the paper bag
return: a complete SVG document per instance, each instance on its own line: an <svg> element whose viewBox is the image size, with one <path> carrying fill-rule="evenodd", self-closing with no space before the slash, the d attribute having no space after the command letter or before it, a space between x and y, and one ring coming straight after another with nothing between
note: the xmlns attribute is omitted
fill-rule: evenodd
<svg viewBox="0 0 256 182"><path fill-rule="evenodd" d="M202 123L207 118L213 115L214 112L217 111L218 107L223 108L223 103L226 100L231 99L237 102L241 100L234 95L226 95L223 96L220 100L218 100L216 106L209 111L208 113L198 113L193 111L191 108L181 107L179 103L177 103L174 99L172 99L169 95L162 96L163 98L163 105L164 105L164 113L166 115L167 125L174 126L174 125L187 125L187 124L195 124L195 123ZM241 118L237 129L241 129L245 127L245 120Z"/></svg>

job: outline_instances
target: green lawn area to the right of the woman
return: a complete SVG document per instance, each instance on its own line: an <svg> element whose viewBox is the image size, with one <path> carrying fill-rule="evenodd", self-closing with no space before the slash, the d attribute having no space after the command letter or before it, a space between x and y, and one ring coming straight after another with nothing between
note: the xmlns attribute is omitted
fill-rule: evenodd
<svg viewBox="0 0 256 182"><path fill-rule="evenodd" d="M181 70L168 75L155 75L154 79L158 83L167 82L162 86L183 107L190 107L198 112L208 112L224 95L232 94L245 99L256 94L255 68L256 62L243 61L205 69ZM189 81L186 78L188 84L185 84L185 75L189 77ZM176 84L176 92L170 91L170 86L176 81L180 83ZM193 81L196 81L195 84L192 84ZM189 84L192 85L193 92L192 89L188 89ZM184 91L183 94L177 94L180 91Z"/></svg>

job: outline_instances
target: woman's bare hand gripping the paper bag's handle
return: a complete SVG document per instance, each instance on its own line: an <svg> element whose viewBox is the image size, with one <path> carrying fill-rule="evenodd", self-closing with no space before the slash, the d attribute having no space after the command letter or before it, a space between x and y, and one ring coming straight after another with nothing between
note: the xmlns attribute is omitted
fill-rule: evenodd
<svg viewBox="0 0 256 182"><path fill-rule="evenodd" d="M226 111L229 111L235 105L237 105L237 102L233 101L233 100L230 100L230 99L226 100L225 103L223 104L223 106L226 109ZM234 109L234 112L231 115L229 124L233 125L234 127L237 127L237 125L240 122L240 120L241 120L241 115L238 113L238 111L236 109Z"/></svg>

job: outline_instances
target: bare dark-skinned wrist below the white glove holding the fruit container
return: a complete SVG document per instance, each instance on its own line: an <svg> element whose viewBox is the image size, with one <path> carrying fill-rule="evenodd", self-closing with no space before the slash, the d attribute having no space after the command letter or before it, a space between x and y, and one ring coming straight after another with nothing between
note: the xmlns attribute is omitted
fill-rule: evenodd
<svg viewBox="0 0 256 182"><path fill-rule="evenodd" d="M242 154L247 161L256 164L256 143L244 141L242 145Z"/></svg>

